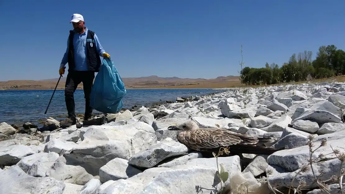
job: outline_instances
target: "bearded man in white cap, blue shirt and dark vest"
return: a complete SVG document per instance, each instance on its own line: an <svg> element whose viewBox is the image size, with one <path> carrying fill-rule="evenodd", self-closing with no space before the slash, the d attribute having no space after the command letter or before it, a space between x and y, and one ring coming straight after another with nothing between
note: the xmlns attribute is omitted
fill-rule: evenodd
<svg viewBox="0 0 345 194"><path fill-rule="evenodd" d="M99 71L101 65L100 56L110 58L110 55L102 48L95 32L85 27L82 15L73 14L70 23L73 30L70 30L67 39L67 49L63 55L59 74L65 73L65 65L68 63L68 74L65 84L65 102L68 112L66 120L61 121L61 127L65 128L76 124L74 92L78 84L83 83L85 97L84 120L89 120L92 114L90 107L90 93L95 78L95 72Z"/></svg>

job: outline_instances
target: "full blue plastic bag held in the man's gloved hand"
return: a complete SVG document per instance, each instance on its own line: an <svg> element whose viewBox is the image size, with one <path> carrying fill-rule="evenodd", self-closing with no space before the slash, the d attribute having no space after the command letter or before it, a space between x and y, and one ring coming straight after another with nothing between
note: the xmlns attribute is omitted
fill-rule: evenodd
<svg viewBox="0 0 345 194"><path fill-rule="evenodd" d="M118 113L122 108L122 98L127 93L114 62L103 58L91 90L90 106L102 113Z"/></svg>

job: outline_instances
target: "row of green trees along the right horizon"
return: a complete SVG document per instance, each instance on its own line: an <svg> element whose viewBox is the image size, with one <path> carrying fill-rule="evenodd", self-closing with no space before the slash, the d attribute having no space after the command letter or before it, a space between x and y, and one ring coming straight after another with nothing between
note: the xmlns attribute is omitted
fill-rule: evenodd
<svg viewBox="0 0 345 194"><path fill-rule="evenodd" d="M305 81L310 78L308 75L329 78L339 74L345 74L345 51L331 44L319 47L315 60L311 51L294 53L280 68L276 63L266 62L263 68L243 68L240 76L242 83L254 85Z"/></svg>

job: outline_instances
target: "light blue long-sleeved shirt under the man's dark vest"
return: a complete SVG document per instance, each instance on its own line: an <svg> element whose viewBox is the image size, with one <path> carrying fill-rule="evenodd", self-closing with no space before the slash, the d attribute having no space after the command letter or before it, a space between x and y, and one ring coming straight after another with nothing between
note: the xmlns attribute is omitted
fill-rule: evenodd
<svg viewBox="0 0 345 194"><path fill-rule="evenodd" d="M85 32L82 34L74 33L73 47L74 47L74 62L76 64L76 71L88 71L88 65L86 63L86 37L88 29L85 27ZM94 35L96 49L100 56L105 52L101 43L98 40L97 35ZM65 67L67 61L67 53L69 50L69 39L67 39L67 49L61 60L60 68Z"/></svg>

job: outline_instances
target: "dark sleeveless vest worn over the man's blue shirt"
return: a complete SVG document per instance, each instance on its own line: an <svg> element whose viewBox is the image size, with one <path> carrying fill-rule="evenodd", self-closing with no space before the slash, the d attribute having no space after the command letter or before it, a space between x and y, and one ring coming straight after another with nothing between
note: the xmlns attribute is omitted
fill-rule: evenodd
<svg viewBox="0 0 345 194"><path fill-rule="evenodd" d="M75 61L74 61L74 47L73 47L73 36L74 31L69 31L69 50L68 50L68 71L73 71L75 69ZM88 65L89 71L98 72L99 67L101 66L101 58L98 54L96 49L96 41L93 38L95 32L88 30L87 37L86 37L86 63Z"/></svg>

